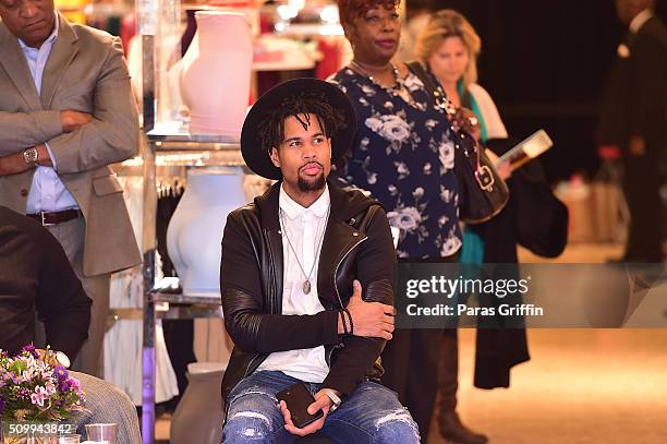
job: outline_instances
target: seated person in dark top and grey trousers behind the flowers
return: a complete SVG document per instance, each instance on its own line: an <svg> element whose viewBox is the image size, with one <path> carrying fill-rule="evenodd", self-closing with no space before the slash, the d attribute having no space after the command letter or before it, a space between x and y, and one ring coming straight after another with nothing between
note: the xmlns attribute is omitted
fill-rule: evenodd
<svg viewBox="0 0 667 444"><path fill-rule="evenodd" d="M38 221L0 205L0 349L14 355L33 343L37 312L47 344L61 352L60 360L73 360L88 335L90 303L56 238ZM74 419L77 433L85 437L86 423L116 422L118 444L141 444L128 395L95 376L70 373L81 382L89 410Z"/></svg>

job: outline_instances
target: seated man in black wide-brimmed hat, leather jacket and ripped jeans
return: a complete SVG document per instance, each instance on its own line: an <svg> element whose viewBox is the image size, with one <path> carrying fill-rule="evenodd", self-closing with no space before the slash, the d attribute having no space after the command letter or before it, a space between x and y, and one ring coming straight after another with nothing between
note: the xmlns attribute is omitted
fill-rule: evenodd
<svg viewBox="0 0 667 444"><path fill-rule="evenodd" d="M222 309L234 340L225 443L289 443L318 430L341 443L420 441L410 412L377 383L393 332L387 217L361 192L327 182L354 122L348 98L314 79L278 85L245 119L245 163L279 182L225 227ZM299 382L315 398L308 412L324 413L302 429L276 398Z"/></svg>

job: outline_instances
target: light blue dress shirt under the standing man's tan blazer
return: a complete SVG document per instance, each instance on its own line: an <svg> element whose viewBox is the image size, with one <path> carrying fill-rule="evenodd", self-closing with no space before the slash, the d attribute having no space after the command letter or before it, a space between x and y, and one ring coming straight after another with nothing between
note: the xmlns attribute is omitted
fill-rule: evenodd
<svg viewBox="0 0 667 444"><path fill-rule="evenodd" d="M51 48L58 38L58 16L56 15L56 24L53 32L39 48L31 48L23 40L19 39L19 45L25 56L25 61L28 64L37 95L41 95L41 76L44 68L49 60ZM56 172L56 159L51 153L51 148L45 143L49 157L53 163L53 167L37 167L33 176L33 183L28 193L26 214L35 214L39 212L61 212L69 208L78 208L76 200L64 187L58 173ZM26 146L29 148L29 146Z"/></svg>

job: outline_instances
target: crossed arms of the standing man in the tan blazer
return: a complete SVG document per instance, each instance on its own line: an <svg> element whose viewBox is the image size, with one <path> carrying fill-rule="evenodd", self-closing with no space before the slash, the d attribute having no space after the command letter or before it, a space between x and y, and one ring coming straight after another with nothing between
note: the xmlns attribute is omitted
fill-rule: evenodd
<svg viewBox="0 0 667 444"><path fill-rule="evenodd" d="M122 161L138 152L138 111L120 39L107 58L92 94L92 113L77 110L0 111L0 176L34 168L23 152L35 146L37 165L75 173Z"/></svg>

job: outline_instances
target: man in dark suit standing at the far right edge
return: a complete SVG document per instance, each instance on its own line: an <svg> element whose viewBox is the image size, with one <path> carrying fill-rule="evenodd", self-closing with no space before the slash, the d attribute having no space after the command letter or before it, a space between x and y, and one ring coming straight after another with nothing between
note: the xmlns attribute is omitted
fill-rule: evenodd
<svg viewBox="0 0 667 444"><path fill-rule="evenodd" d="M662 262L660 166L667 152L667 28L654 0L617 0L629 25L603 100L601 143L621 148L630 229L622 261Z"/></svg>

